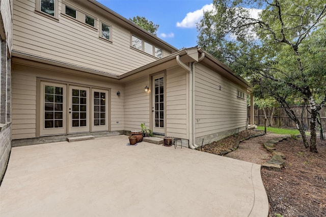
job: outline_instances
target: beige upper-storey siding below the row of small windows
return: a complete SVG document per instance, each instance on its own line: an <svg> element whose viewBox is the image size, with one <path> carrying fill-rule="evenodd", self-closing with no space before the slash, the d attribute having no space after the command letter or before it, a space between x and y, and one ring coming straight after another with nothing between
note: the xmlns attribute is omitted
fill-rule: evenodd
<svg viewBox="0 0 326 217"><path fill-rule="evenodd" d="M129 30L94 11L83 9L112 25L112 42L99 38L98 26L88 27L60 13L57 22L35 13L35 4L35 0L14 1L14 50L117 75L157 59L130 48Z"/></svg>

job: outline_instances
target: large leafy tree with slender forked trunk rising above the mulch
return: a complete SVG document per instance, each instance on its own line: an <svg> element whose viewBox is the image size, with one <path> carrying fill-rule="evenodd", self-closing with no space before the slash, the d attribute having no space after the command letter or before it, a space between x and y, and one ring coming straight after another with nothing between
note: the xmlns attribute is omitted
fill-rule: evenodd
<svg viewBox="0 0 326 217"><path fill-rule="evenodd" d="M317 152L316 118L326 102L324 0L213 0L198 23L198 44L271 96ZM290 98L308 102L310 144Z"/></svg>

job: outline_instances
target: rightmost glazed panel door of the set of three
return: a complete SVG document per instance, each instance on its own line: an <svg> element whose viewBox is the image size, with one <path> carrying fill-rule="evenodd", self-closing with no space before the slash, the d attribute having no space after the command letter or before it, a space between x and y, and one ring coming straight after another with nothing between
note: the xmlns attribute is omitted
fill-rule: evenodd
<svg viewBox="0 0 326 217"><path fill-rule="evenodd" d="M92 89L92 131L108 130L108 90Z"/></svg>

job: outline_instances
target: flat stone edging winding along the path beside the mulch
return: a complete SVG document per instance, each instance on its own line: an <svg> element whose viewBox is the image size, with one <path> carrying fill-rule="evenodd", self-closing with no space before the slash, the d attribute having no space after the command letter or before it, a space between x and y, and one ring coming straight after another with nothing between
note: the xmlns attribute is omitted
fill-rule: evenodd
<svg viewBox="0 0 326 217"><path fill-rule="evenodd" d="M284 167L285 155L284 155L284 153L277 151L275 145L283 140L287 140L288 138L291 138L291 136L283 136L280 138L274 138L274 139L271 139L271 140L263 143L264 148L266 148L268 151L273 153L273 157L270 160L268 160L266 163L264 163L262 165L263 167L277 168L277 169L281 169Z"/></svg>

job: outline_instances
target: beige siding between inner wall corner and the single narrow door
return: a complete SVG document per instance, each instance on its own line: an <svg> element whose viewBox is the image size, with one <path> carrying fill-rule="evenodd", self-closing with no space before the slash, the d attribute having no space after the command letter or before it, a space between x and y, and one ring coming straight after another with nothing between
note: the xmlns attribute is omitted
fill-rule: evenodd
<svg viewBox="0 0 326 217"><path fill-rule="evenodd" d="M124 129L141 130L141 123L150 126L150 93L144 91L149 86L149 78L143 77L124 86Z"/></svg>

